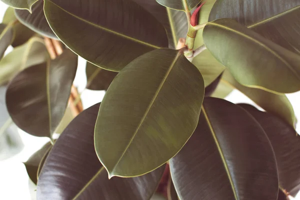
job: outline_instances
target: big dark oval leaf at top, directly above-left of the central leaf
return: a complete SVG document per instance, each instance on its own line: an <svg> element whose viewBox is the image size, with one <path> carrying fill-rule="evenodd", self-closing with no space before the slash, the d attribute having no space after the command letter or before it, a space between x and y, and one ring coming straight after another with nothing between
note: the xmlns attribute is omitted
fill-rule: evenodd
<svg viewBox="0 0 300 200"><path fill-rule="evenodd" d="M64 44L108 70L119 71L137 56L168 46L163 26L133 1L45 0L44 12Z"/></svg>

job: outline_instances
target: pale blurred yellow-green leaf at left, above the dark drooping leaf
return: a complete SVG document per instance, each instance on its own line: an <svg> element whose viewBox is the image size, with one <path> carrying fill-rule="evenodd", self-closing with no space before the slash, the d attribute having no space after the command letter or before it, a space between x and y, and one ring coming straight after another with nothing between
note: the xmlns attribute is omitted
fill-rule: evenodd
<svg viewBox="0 0 300 200"><path fill-rule="evenodd" d="M30 38L0 60L0 85L9 81L20 70L44 62L48 58L49 54L43 39Z"/></svg>

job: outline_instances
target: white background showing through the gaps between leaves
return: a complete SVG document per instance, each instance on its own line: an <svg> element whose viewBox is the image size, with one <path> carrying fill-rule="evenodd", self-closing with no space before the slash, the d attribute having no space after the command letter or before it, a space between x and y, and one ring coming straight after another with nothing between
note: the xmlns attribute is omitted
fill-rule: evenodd
<svg viewBox="0 0 300 200"><path fill-rule="evenodd" d="M4 15L7 6L0 1L0 21ZM9 47L6 51L9 52L12 48ZM85 60L79 58L78 71L74 80L74 84L78 87L79 92L83 91L85 78ZM103 91L84 90L82 93L83 107L87 108L94 103L101 101L104 95ZM300 119L300 92L287 94L287 97L294 106L294 110L298 119ZM252 103L252 101L237 90L234 90L227 98L234 103ZM1 110L0 110L1 114ZM24 143L23 150L17 155L0 161L0 199L1 200L31 200L34 192L34 185L30 183L25 167L22 164L28 157L38 150L44 143L48 142L48 138L34 137L19 130L21 139ZM297 132L300 133L300 127L297 126ZM295 174L298 175L298 174ZM34 195L34 194L33 194ZM299 198L300 199L300 196Z"/></svg>

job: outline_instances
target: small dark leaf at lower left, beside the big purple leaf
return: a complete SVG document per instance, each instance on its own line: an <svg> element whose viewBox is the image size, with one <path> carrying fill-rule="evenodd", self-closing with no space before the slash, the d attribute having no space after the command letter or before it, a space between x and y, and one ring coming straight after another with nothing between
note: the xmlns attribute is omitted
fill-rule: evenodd
<svg viewBox="0 0 300 200"><path fill-rule="evenodd" d="M34 184L37 183L37 177L38 177L37 171L39 168L39 164L47 156L51 147L52 145L50 142L46 143L41 149L33 153L26 162L24 162L28 176Z"/></svg>

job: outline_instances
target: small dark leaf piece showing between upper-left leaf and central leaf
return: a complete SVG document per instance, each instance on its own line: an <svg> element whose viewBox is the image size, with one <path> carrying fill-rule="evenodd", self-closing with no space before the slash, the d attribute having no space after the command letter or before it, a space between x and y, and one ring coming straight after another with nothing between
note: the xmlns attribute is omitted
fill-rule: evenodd
<svg viewBox="0 0 300 200"><path fill-rule="evenodd" d="M85 72L87 78L86 88L92 90L107 90L117 74L117 72L105 70L90 62L86 62Z"/></svg>

